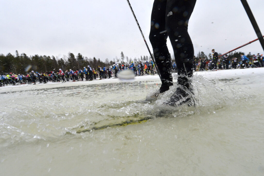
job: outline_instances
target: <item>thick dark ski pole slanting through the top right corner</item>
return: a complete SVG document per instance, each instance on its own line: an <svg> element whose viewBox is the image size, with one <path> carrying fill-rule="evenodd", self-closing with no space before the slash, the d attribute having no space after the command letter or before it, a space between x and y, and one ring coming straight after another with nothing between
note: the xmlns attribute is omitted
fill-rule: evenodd
<svg viewBox="0 0 264 176"><path fill-rule="evenodd" d="M254 15L253 15L253 13L252 13L252 11L251 11L248 3L247 3L247 0L241 0L241 3L243 4L245 11L247 12L248 18L249 18L257 36L258 36L258 40L260 40L260 44L261 44L262 49L264 51L264 39L262 37L260 28L258 27L258 24L254 18Z"/></svg>

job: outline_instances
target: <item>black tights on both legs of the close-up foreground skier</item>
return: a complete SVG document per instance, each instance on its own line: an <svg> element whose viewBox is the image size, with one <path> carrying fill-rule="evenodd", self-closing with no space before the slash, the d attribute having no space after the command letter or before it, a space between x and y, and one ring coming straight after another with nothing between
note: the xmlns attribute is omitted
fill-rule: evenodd
<svg viewBox="0 0 264 176"><path fill-rule="evenodd" d="M173 85L168 37L177 65L178 83L185 85L187 76L192 76L194 47L187 30L195 3L196 0L154 0L149 40L161 75L161 93Z"/></svg>

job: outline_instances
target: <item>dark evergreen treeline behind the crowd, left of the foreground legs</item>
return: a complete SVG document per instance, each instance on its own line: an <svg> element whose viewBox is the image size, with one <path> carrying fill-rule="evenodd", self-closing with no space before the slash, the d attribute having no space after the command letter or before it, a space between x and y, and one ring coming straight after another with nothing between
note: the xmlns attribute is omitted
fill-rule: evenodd
<svg viewBox="0 0 264 176"><path fill-rule="evenodd" d="M25 53L19 54L16 50L15 55L8 53L6 56L0 54L0 73L20 73L25 74L34 70L36 72L50 72L53 70L76 70L83 69L84 66L90 65L92 68L97 68L98 65L102 66L110 66L115 62L125 64L131 63L134 61L137 63L138 61L148 61L150 56L141 56L140 58L134 58L133 60L125 57L123 52L121 52L120 58L114 58L113 61L109 61L107 58L105 61L101 61L99 58L87 58L82 56L82 54L78 53L76 56L73 53L68 53L68 56L63 56L63 58L55 58L54 56L46 56L46 55L34 55L27 56Z"/></svg>

